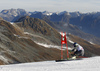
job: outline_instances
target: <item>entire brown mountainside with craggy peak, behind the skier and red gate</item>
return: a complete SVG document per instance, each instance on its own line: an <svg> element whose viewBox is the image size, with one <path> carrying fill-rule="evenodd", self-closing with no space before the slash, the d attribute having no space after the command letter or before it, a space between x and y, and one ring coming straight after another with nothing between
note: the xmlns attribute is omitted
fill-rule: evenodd
<svg viewBox="0 0 100 71"><path fill-rule="evenodd" d="M100 55L100 46L81 38L68 35L68 39L78 42L85 49L85 56ZM15 23L0 20L0 64L15 64L60 59L60 34L48 23L37 18L24 16ZM72 43L68 40L68 47ZM39 45L56 45L49 48ZM45 43L45 44L44 44ZM64 51L64 58L66 50Z"/></svg>

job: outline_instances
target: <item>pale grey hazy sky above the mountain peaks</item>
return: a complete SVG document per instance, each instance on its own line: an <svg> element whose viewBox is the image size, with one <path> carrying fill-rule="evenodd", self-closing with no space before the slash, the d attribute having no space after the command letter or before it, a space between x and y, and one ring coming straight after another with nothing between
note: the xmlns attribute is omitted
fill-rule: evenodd
<svg viewBox="0 0 100 71"><path fill-rule="evenodd" d="M31 12L100 12L100 0L0 0L0 11L11 8L22 8Z"/></svg>

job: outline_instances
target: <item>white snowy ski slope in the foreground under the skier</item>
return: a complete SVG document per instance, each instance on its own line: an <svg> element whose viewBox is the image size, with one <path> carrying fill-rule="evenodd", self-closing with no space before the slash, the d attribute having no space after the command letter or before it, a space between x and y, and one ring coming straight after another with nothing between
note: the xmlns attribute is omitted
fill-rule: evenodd
<svg viewBox="0 0 100 71"><path fill-rule="evenodd" d="M83 60L33 62L0 66L0 71L100 71L100 57Z"/></svg>

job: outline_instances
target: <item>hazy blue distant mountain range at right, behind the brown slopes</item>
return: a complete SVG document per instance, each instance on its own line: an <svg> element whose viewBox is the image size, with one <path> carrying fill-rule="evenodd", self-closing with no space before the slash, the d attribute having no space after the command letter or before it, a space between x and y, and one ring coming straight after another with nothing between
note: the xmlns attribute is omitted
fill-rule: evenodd
<svg viewBox="0 0 100 71"><path fill-rule="evenodd" d="M17 9L10 9L10 10L15 11ZM28 12L27 13L23 9L19 9L19 10L24 11L25 14L29 15L30 17L45 20L49 25L51 25L55 29L57 28L57 30L59 30L59 31L67 30L67 29L61 29L60 27L65 28L65 26L61 26L61 25L66 25L66 23L68 25L73 24L73 25L77 26L80 30L82 30L83 32L89 33L89 35L90 34L94 35L93 38L95 38L95 36L99 38L99 30L98 30L98 28L99 28L99 25L98 25L99 24L99 15L100 15L99 12L80 13L78 11L77 12L63 11L63 12L54 12L54 13L52 12L51 15L46 15L46 14L50 14L51 12L36 11L36 12ZM0 15L1 15L1 13L0 13ZM12 18L9 18L9 19L12 19L12 21L15 21L22 16L23 15L18 15L15 18L13 17L13 19ZM93 21L92 21L92 19L93 19ZM73 32L73 34L74 34L74 32ZM82 34L80 34L80 35L75 34L75 35L82 37ZM86 36L86 35L84 35L84 36ZM82 38L84 38L84 37L82 37ZM84 39L91 41L91 39L88 39L88 38L84 38ZM94 39L94 42L96 41L96 39ZM99 41L99 40L97 40L97 41Z"/></svg>

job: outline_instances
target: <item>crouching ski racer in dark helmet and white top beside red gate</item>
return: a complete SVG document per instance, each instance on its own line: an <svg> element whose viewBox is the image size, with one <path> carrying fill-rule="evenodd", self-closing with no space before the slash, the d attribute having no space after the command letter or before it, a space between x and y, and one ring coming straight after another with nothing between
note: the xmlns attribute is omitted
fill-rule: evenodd
<svg viewBox="0 0 100 71"><path fill-rule="evenodd" d="M77 44L76 42L73 44L74 49L72 50L73 53L71 54L72 56L83 56L84 55L84 49L82 46Z"/></svg>

